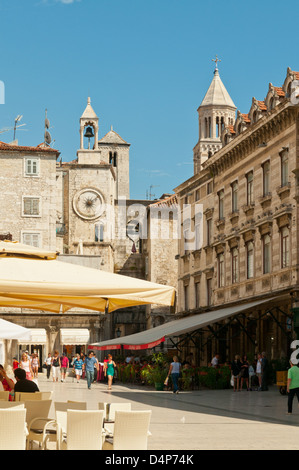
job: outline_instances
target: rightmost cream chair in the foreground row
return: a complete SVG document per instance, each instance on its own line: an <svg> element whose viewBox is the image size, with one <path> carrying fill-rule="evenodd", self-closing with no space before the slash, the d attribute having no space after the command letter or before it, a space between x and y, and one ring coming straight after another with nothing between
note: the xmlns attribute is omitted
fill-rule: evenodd
<svg viewBox="0 0 299 470"><path fill-rule="evenodd" d="M115 411L113 439L106 438L104 450L147 450L151 410Z"/></svg>

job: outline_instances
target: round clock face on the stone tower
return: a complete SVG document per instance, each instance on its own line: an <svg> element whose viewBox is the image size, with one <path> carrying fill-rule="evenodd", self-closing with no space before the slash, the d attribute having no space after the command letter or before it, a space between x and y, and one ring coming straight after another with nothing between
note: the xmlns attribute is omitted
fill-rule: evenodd
<svg viewBox="0 0 299 470"><path fill-rule="evenodd" d="M82 189L75 194L73 207L82 219L93 220L104 211L103 197L96 189Z"/></svg>

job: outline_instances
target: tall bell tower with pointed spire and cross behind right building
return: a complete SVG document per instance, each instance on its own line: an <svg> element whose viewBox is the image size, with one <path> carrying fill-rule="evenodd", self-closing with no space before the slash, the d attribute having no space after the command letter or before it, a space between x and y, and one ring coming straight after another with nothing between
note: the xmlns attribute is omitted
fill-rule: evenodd
<svg viewBox="0 0 299 470"><path fill-rule="evenodd" d="M213 80L202 100L198 112L199 139L193 150L194 174L201 165L222 147L221 134L225 127L234 125L236 106L219 75L218 59L215 62Z"/></svg>

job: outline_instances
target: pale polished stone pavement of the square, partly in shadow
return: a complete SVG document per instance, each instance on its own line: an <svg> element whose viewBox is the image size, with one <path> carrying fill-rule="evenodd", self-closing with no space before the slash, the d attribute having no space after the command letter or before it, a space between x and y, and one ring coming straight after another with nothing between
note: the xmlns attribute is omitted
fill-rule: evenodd
<svg viewBox="0 0 299 470"><path fill-rule="evenodd" d="M130 401L133 410L152 410L149 450L298 450L299 408L287 415L287 396L276 386L267 392L195 390L178 395L168 391L116 382L112 391L104 383L77 383L47 379L39 374L40 391L53 390L54 401L86 401L87 409L98 402ZM50 417L54 418L52 403ZM134 436L132 436L134 439ZM38 447L36 447L38 448ZM54 450L54 444L49 444Z"/></svg>

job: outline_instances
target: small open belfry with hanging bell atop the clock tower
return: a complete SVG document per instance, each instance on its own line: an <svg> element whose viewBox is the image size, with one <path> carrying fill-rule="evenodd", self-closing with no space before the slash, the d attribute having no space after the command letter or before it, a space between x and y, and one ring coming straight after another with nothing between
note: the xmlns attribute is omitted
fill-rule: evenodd
<svg viewBox="0 0 299 470"><path fill-rule="evenodd" d="M90 98L80 118L80 149L77 151L79 164L99 164L101 152L98 149L99 118L92 109Z"/></svg>

